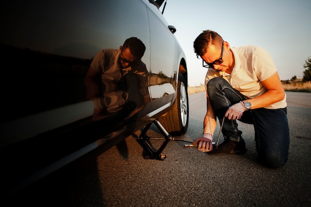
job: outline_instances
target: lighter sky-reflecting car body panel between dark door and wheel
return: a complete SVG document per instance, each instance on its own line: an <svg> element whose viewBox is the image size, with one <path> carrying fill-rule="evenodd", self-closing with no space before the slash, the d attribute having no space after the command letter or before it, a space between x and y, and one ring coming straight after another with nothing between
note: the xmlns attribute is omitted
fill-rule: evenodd
<svg viewBox="0 0 311 207"><path fill-rule="evenodd" d="M177 64L177 42L168 28L162 13L153 3L147 3L150 33L150 92L152 108L170 105L175 100Z"/></svg>

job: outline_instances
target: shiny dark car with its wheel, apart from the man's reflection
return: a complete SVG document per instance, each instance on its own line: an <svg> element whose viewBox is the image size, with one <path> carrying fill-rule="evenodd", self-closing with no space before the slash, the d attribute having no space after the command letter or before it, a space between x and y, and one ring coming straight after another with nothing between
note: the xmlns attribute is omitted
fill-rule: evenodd
<svg viewBox="0 0 311 207"><path fill-rule="evenodd" d="M174 35L176 28L163 16L163 1L2 3L2 195L80 158L98 156L139 130L149 158L163 160L161 149L153 151L145 140L152 124L164 135L163 147L187 132L186 57ZM94 119L85 75L99 51L119 49L131 37L146 46L141 61L150 100L136 112L137 107L121 107Z"/></svg>

